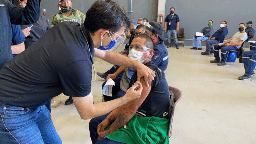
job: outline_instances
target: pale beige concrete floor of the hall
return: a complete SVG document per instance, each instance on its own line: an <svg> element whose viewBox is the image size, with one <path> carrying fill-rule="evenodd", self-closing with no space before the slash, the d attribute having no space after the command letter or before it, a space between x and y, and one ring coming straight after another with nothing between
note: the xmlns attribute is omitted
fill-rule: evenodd
<svg viewBox="0 0 256 144"><path fill-rule="evenodd" d="M177 104L170 143L175 144L255 144L256 143L256 76L251 80L238 80L244 67L218 66L209 61L212 57L201 55L203 50L167 48L169 65L165 70L170 86L183 93ZM249 50L248 48L246 50ZM104 72L111 64L95 59L96 71ZM256 71L255 71L256 72ZM103 80L96 76L92 82L94 102L101 101ZM88 124L81 123L74 104L64 105L67 96L52 108L52 120L63 144L91 144ZM53 102L52 101L52 102Z"/></svg>

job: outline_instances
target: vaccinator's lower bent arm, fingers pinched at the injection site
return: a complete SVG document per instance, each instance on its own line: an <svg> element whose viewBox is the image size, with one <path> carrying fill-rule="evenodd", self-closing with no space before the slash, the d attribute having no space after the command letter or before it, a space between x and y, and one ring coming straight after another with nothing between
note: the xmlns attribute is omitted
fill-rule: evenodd
<svg viewBox="0 0 256 144"><path fill-rule="evenodd" d="M136 89L139 87L139 89ZM130 89L127 90L126 95L112 101L100 102L93 104L92 92L85 97L72 97L76 109L82 119L91 119L102 116L115 108L124 105L125 103L139 98L142 92L142 84L139 81L135 82Z"/></svg>

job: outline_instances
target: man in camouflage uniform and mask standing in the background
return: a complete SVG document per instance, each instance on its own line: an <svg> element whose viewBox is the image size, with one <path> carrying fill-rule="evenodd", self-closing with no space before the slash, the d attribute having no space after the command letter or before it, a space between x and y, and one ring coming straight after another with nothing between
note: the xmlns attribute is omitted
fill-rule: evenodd
<svg viewBox="0 0 256 144"><path fill-rule="evenodd" d="M57 15L52 18L51 25L55 26L63 21L74 21L78 23L83 23L85 20L85 15L79 10L72 9L73 3L71 0L60 0L59 7L60 11Z"/></svg>

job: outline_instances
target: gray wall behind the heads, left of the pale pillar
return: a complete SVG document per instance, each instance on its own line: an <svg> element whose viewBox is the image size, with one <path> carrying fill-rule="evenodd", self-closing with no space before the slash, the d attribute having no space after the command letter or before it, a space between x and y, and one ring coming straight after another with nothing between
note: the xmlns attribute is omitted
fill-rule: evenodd
<svg viewBox="0 0 256 144"><path fill-rule="evenodd" d="M73 8L86 14L87 10L96 0L72 0ZM129 0L117 0L121 5L129 10ZM41 14L43 9L46 9L46 17L49 22L52 21L53 15L59 11L59 0L42 0L41 1ZM157 16L158 1L157 0L133 0L132 1L132 17L137 22L139 18L147 18L149 21L155 20Z"/></svg>

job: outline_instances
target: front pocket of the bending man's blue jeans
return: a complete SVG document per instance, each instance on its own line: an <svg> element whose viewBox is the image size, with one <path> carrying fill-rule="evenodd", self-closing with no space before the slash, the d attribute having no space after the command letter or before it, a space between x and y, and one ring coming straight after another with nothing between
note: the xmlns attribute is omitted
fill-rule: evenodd
<svg viewBox="0 0 256 144"><path fill-rule="evenodd" d="M4 106L3 112L4 117L21 116L27 114L30 111L29 108L15 107L15 106Z"/></svg>

